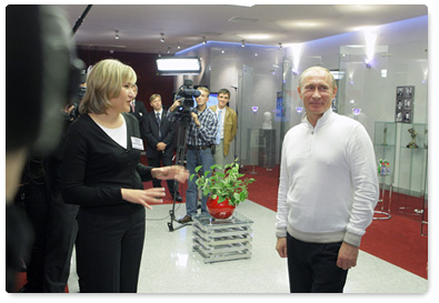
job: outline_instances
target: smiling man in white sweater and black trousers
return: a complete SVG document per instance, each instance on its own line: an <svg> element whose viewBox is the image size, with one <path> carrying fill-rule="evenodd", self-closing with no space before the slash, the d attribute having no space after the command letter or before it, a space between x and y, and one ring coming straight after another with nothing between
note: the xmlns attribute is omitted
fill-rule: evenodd
<svg viewBox="0 0 439 303"><path fill-rule="evenodd" d="M276 250L288 256L290 292L342 292L372 222L378 178L372 142L357 121L332 112L332 74L306 70L306 115L282 145Z"/></svg>

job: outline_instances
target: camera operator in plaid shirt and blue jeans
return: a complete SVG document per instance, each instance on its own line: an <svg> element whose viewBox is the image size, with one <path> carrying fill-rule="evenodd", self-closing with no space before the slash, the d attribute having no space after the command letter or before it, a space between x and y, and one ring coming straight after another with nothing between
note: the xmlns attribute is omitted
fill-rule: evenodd
<svg viewBox="0 0 439 303"><path fill-rule="evenodd" d="M190 174L194 173L198 165L202 165L200 173L204 173L204 170L210 170L213 162L214 140L218 129L217 114L207 108L210 91L207 88L198 88L198 92L193 93L197 101L197 108L189 110L187 109L187 102L184 102L181 109L181 101L179 99L173 102L169 108L168 119L176 121L178 119L188 119L188 138L187 138L187 169ZM191 97L190 97L191 99ZM184 101L187 101L184 99ZM177 110L179 109L179 110ZM192 221L192 218L197 215L197 202L198 202L198 190L196 184L197 178L189 180L188 190L186 192L186 212L187 214L180 219L179 223L188 223ZM207 212L207 198L202 198L201 202L201 215L208 214Z"/></svg>

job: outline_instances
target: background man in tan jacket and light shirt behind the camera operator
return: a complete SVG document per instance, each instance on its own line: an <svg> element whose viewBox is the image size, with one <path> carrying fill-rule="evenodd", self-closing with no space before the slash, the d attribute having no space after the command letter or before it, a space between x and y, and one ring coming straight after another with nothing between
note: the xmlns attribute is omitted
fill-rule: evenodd
<svg viewBox="0 0 439 303"><path fill-rule="evenodd" d="M237 112L227 107L230 101L230 91L221 89L218 91L218 105L210 107L218 117L218 132L214 144L213 154L214 163L223 168L226 158L229 154L230 144L237 135L238 117Z"/></svg>

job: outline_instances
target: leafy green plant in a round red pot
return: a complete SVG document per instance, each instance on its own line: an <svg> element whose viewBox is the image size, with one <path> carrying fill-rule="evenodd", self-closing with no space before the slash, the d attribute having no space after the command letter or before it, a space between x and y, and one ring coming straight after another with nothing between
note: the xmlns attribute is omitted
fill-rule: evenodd
<svg viewBox="0 0 439 303"><path fill-rule="evenodd" d="M252 178L243 179L245 174L239 173L237 161L238 159L225 165L225 168L214 164L210 166L210 171L204 171L204 174L200 175L196 181L202 194L204 196L210 195L207 208L210 215L216 219L229 218L233 213L235 208L249 195L248 185L256 181ZM196 173L190 176L191 181L201 168L202 165L196 168Z"/></svg>

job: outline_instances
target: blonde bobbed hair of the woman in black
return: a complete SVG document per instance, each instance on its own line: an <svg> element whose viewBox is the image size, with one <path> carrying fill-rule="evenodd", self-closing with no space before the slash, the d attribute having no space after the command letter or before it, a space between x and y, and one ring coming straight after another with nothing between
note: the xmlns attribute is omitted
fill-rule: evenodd
<svg viewBox="0 0 439 303"><path fill-rule="evenodd" d="M120 94L123 83L136 84L134 70L114 59L99 61L87 77L87 92L79 104L79 113L104 113L110 99Z"/></svg>

